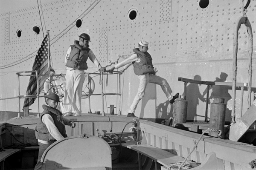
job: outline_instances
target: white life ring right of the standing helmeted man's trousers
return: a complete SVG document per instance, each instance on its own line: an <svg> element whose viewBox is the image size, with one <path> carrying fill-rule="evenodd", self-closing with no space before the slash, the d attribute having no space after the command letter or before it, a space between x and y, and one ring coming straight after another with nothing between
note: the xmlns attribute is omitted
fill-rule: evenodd
<svg viewBox="0 0 256 170"><path fill-rule="evenodd" d="M88 98L94 92L95 83L93 81L93 78L90 77L90 75L85 74L84 76L85 76L85 80L83 84L82 98ZM88 81L88 78L89 78L89 81Z"/></svg>

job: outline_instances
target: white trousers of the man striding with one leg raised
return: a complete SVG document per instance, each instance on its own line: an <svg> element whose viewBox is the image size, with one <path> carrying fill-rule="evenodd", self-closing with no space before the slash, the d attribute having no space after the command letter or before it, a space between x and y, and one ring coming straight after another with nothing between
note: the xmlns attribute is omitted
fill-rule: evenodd
<svg viewBox="0 0 256 170"><path fill-rule="evenodd" d="M154 84L158 84L161 86L163 92L165 93L166 97L171 100L172 99L172 89L169 86L168 82L166 81L166 79L161 78L158 75L152 75L152 74L145 74L145 75L139 75L139 79L140 79L140 86L138 89L138 92L134 98L134 101L132 102L131 106L130 106L130 110L129 113L134 113L137 105L139 103L139 101L143 98L144 94L145 94L145 89L148 83L154 83Z"/></svg>

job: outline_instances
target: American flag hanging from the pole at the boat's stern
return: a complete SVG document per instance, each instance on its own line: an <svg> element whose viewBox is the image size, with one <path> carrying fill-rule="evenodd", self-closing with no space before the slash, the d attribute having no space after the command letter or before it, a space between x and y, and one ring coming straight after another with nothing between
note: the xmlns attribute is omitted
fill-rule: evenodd
<svg viewBox="0 0 256 170"><path fill-rule="evenodd" d="M33 64L33 71L37 70L38 75L49 74L48 69L48 35L44 37L43 42L41 43L41 47L39 48L35 61ZM50 69L54 72L53 69ZM35 72L32 72L31 75L36 75ZM38 77L38 85L39 85L39 93L44 89L44 82L47 79L47 76L39 76ZM26 95L37 95L37 83L36 76L30 76L29 85L26 90ZM25 98L23 108L29 107L34 103L36 98Z"/></svg>

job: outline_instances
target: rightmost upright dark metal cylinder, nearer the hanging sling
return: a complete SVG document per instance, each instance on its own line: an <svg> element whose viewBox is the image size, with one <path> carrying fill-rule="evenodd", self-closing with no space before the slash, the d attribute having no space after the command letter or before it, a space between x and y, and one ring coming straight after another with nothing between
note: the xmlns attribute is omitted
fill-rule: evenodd
<svg viewBox="0 0 256 170"><path fill-rule="evenodd" d="M225 111L226 104L224 104L224 99L214 98L214 101L211 103L209 128L213 130L221 130L222 139L224 138ZM218 137L218 134L214 131L209 131L209 135Z"/></svg>

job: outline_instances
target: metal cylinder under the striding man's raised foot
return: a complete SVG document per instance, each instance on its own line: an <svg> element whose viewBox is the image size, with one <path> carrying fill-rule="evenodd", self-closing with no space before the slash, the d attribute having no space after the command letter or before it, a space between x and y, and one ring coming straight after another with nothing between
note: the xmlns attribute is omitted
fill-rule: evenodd
<svg viewBox="0 0 256 170"><path fill-rule="evenodd" d="M187 107L188 101L186 101L185 96L181 95L175 100L172 125L186 123Z"/></svg>

